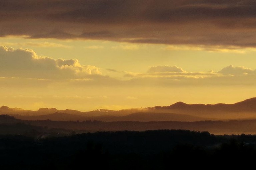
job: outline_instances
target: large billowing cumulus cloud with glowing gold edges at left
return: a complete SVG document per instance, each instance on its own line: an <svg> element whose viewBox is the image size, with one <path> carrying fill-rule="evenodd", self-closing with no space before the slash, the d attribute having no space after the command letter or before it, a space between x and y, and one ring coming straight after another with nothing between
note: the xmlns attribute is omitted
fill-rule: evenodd
<svg viewBox="0 0 256 170"><path fill-rule="evenodd" d="M38 56L31 49L0 46L0 77L37 79L78 79L100 75L95 66L82 66L77 59Z"/></svg>

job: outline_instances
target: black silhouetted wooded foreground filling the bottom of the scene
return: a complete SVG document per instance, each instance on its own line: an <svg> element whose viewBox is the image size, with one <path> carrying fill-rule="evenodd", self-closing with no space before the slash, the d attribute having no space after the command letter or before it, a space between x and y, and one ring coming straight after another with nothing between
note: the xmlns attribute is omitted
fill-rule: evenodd
<svg viewBox="0 0 256 170"><path fill-rule="evenodd" d="M208 169L245 167L255 159L256 135L153 130L0 136L1 169Z"/></svg>

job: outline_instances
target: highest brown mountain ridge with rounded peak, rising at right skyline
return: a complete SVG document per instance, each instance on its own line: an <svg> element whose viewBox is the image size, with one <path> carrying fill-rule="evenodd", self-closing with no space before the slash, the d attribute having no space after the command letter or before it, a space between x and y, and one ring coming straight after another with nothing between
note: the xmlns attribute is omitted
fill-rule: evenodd
<svg viewBox="0 0 256 170"><path fill-rule="evenodd" d="M256 118L256 97L234 104L187 104L177 102L169 106L148 107L150 112L172 112L218 119Z"/></svg>

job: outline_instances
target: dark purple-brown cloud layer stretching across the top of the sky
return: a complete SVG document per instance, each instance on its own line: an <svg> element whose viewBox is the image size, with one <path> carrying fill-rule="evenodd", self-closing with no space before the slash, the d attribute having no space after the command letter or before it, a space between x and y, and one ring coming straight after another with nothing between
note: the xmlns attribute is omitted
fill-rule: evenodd
<svg viewBox="0 0 256 170"><path fill-rule="evenodd" d="M255 47L253 0L11 0L0 36Z"/></svg>

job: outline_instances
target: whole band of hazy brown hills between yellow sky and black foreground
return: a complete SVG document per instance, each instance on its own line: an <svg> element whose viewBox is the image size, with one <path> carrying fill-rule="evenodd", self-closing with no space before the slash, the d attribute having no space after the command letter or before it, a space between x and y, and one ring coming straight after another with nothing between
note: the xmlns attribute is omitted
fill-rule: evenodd
<svg viewBox="0 0 256 170"><path fill-rule="evenodd" d="M169 106L117 111L98 109L89 112L56 108L32 111L2 106L0 113L4 114L0 116L1 134L7 132L7 129L10 129L10 134L26 134L31 129L37 129L38 134L43 135L159 129L208 131L221 135L256 134L256 98L234 104L177 102Z"/></svg>

